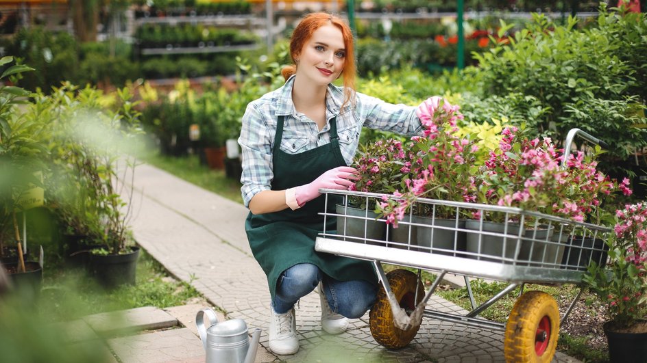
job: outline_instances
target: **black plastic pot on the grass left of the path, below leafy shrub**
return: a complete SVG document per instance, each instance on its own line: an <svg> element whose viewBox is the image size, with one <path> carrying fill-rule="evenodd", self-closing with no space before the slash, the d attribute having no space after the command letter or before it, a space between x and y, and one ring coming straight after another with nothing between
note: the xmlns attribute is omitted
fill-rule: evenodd
<svg viewBox="0 0 647 363"><path fill-rule="evenodd" d="M105 288L134 285L138 258L139 247L130 247L126 254L90 254L90 269Z"/></svg>

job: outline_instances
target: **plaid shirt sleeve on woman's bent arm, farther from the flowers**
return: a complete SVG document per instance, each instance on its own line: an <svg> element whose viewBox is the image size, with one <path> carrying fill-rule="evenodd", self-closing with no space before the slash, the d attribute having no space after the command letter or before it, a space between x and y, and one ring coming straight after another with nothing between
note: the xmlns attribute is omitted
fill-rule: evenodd
<svg viewBox="0 0 647 363"><path fill-rule="evenodd" d="M256 103L247 105L243 115L241 136L238 139L243 154L241 193L243 202L249 208L249 201L259 191L271 189L272 135Z"/></svg>

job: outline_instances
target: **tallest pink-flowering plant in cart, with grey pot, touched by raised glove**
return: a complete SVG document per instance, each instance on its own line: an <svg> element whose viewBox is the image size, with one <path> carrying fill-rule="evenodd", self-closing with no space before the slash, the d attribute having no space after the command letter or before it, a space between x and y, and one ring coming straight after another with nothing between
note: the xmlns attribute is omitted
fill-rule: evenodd
<svg viewBox="0 0 647 363"><path fill-rule="evenodd" d="M409 170L402 180L398 200L384 200L378 210L387 223L397 226L407 212L413 213L417 228L417 244L431 252L454 254L465 250L465 221L454 207L442 204L417 204L417 198L473 202L476 198L474 172L478 146L469 135L461 136L456 126L463 119L459 106L448 100L432 97L427 110L419 117L424 125L422 136L407 144Z"/></svg>

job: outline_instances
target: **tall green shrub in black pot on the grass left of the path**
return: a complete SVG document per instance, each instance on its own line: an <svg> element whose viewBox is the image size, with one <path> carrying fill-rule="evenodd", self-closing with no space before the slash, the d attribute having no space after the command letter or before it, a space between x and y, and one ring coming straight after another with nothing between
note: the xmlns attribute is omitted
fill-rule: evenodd
<svg viewBox="0 0 647 363"><path fill-rule="evenodd" d="M51 200L66 228L86 235L82 252L99 282L134 284L139 248L128 222L136 160L126 151L141 129L132 90L118 89L108 107L103 92L89 87L65 84L54 94L67 102L47 98L60 111L52 122L62 150L53 154Z"/></svg>

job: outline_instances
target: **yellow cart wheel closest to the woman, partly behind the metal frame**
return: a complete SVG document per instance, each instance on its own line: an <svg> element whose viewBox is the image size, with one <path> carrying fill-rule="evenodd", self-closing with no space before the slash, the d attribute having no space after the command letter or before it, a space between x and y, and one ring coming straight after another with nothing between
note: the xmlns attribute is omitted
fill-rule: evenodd
<svg viewBox="0 0 647 363"><path fill-rule="evenodd" d="M394 270L387 273L387 280L395 299L400 302L400 308L415 309L415 306L424 297L424 287L418 281L417 275L407 270ZM415 286L418 287L418 298L415 299ZM387 299L384 287L380 287L375 305L369 314L371 334L380 345L389 349L400 349L407 345L419 330L419 326L411 330L400 330L393 323L393 312L391 304Z"/></svg>

